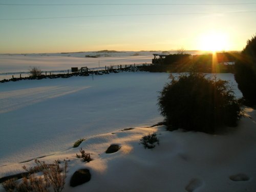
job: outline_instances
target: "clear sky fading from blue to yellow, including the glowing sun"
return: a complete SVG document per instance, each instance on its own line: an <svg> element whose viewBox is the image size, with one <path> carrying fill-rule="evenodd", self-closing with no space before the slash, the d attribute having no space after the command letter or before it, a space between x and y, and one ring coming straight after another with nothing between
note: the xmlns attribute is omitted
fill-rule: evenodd
<svg viewBox="0 0 256 192"><path fill-rule="evenodd" d="M255 23L256 0L0 0L0 53L241 51Z"/></svg>

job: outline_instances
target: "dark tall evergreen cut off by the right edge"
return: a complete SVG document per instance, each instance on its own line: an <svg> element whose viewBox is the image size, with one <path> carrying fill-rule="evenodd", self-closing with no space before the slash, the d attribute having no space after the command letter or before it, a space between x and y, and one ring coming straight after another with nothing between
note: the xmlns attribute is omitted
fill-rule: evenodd
<svg viewBox="0 0 256 192"><path fill-rule="evenodd" d="M241 58L234 65L234 77L246 104L256 104L256 35L247 40Z"/></svg>

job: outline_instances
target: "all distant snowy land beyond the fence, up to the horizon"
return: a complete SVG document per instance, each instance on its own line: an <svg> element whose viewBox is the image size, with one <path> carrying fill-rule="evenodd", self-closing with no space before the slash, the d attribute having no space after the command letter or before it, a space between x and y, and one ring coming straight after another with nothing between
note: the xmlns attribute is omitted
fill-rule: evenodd
<svg viewBox="0 0 256 192"><path fill-rule="evenodd" d="M176 53L173 51L171 53ZM189 54L201 53L187 51ZM59 71L71 71L72 67L88 67L89 69L105 69L105 66L132 65L134 63L152 63L153 53L161 54L161 51L127 51L117 53L47 53L47 54L0 54L0 80L14 77L29 76L31 67L37 67L42 71L59 73ZM86 55L97 58L85 57ZM136 56L134 56L136 55ZM48 73L49 74L49 73Z"/></svg>

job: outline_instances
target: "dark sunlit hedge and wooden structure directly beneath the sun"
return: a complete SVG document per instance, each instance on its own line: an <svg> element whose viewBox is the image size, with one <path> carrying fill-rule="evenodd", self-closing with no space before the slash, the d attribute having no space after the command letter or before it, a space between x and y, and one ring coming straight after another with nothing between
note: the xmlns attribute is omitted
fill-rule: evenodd
<svg viewBox="0 0 256 192"><path fill-rule="evenodd" d="M233 73L233 65L228 62L236 62L240 52L223 52L216 54L169 54L158 55L152 59L152 66L147 71L151 72L187 72L196 71L202 73ZM215 64L215 65L213 65Z"/></svg>

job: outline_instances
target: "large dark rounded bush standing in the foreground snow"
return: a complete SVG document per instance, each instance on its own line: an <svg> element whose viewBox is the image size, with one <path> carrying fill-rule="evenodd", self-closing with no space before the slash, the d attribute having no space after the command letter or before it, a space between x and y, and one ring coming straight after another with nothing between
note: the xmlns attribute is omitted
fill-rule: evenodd
<svg viewBox="0 0 256 192"><path fill-rule="evenodd" d="M158 99L169 128L214 133L222 125L237 125L241 108L227 81L200 73L169 78Z"/></svg>

